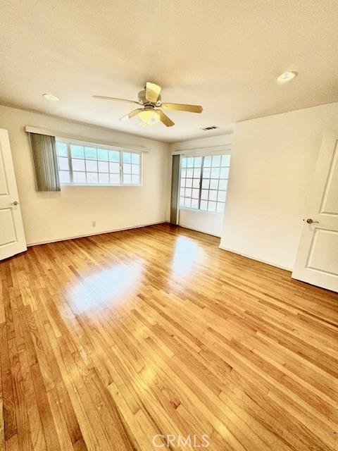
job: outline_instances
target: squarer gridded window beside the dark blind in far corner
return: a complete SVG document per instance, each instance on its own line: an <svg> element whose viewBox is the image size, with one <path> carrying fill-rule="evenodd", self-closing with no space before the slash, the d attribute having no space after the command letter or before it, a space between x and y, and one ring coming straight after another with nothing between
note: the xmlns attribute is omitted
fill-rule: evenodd
<svg viewBox="0 0 338 451"><path fill-rule="evenodd" d="M223 213L230 155L183 156L180 206Z"/></svg>

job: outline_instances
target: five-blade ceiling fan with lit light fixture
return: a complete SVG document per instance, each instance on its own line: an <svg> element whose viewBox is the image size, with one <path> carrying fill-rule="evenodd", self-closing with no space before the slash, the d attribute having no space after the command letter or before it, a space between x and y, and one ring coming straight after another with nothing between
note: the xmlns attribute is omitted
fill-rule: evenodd
<svg viewBox="0 0 338 451"><path fill-rule="evenodd" d="M128 101L132 104L142 105L142 108L137 108L130 111L126 116L120 118L120 121L126 121L134 116L139 116L143 125L151 125L161 121L167 127L172 127L175 123L160 109L189 111L190 113L201 113L203 108L200 105L185 105L185 104L165 104L161 101L161 86L155 83L146 82L146 86L139 92L137 101L127 99L116 99L115 97L93 96L95 99L119 100Z"/></svg>

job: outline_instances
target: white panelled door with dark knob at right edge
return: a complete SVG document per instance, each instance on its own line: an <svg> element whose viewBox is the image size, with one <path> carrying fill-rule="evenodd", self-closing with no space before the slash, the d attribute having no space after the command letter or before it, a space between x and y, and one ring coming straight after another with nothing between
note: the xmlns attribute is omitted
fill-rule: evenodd
<svg viewBox="0 0 338 451"><path fill-rule="evenodd" d="M292 277L338 291L338 130L323 137Z"/></svg>

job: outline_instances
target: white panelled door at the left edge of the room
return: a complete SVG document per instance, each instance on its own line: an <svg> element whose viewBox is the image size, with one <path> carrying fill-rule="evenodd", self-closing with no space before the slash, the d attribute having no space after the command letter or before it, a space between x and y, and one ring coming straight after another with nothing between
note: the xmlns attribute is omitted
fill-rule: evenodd
<svg viewBox="0 0 338 451"><path fill-rule="evenodd" d="M26 249L8 132L0 128L0 260Z"/></svg>

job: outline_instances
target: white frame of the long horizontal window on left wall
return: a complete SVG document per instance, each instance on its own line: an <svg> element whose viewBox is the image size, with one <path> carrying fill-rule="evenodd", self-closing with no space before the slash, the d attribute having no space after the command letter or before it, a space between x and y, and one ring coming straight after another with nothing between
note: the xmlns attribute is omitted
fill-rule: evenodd
<svg viewBox="0 0 338 451"><path fill-rule="evenodd" d="M67 155L68 155L68 166L69 166L69 173L70 173L70 183L64 183L60 182L62 186L89 186L89 187L142 187L143 186L143 156L142 154L144 152L140 150L135 149L128 149L127 147L119 147L119 146L109 146L107 144L100 144L96 142L88 142L88 141L80 141L80 140L73 140L68 139L64 137L56 137L56 143L62 143L67 145ZM120 183L74 183L73 182L73 163L72 163L72 155L70 151L71 145L75 146L82 146L82 147L93 147L94 149L106 149L106 150L114 150L118 151L120 154L120 168L119 168L119 175L120 175ZM130 153L130 154L138 154L139 155L139 183L123 183L123 152ZM56 157L58 158L58 155L56 154ZM65 157L63 157L65 158ZM85 159L84 159L85 160ZM92 160L99 162L99 159ZM84 173L87 173L87 171L84 171ZM99 171L97 171L99 174ZM109 172L108 172L109 173Z"/></svg>

